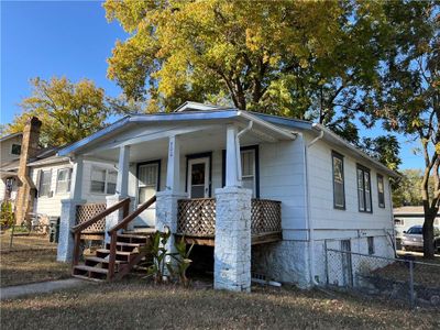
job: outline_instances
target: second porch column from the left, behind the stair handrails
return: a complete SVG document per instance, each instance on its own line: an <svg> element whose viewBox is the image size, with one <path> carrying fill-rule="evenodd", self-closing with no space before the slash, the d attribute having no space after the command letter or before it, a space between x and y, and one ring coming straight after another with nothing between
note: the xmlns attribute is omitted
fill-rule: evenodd
<svg viewBox="0 0 440 330"><path fill-rule="evenodd" d="M130 167L130 145L122 145L119 150L119 163L118 163L118 178L116 194L107 196L107 208L112 207L117 202L129 196L129 167ZM108 231L118 224L123 219L123 210L112 212L106 217L106 243L110 242Z"/></svg>

